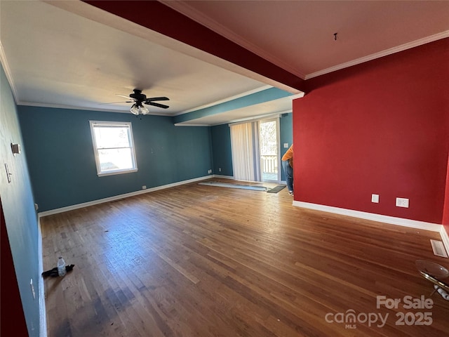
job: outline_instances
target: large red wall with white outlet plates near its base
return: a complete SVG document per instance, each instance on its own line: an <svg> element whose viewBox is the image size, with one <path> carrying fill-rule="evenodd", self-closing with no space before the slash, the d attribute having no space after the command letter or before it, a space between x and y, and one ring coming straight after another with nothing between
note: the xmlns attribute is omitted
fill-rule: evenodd
<svg viewBox="0 0 449 337"><path fill-rule="evenodd" d="M295 200L442 223L448 60L442 39L307 80L293 102Z"/></svg>

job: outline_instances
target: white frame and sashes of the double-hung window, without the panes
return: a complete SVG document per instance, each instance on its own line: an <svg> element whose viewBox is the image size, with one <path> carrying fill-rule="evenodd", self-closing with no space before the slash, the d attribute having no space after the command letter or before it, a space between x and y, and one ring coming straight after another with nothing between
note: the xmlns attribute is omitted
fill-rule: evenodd
<svg viewBox="0 0 449 337"><path fill-rule="evenodd" d="M93 153L95 154L95 164L97 165L97 175L100 176L112 176L114 174L122 174L122 173L130 173L130 172L137 172L138 171L138 164L135 159L135 147L134 147L134 139L133 139L133 127L129 121L89 121L89 124L91 126L91 136L92 136L92 145L93 145ZM97 140L95 139L95 126L110 126L110 127L126 127L128 128L128 139L130 147L124 147L124 148L130 148L131 150L131 159L133 161L133 168L132 169L116 169L114 171L102 171L101 169L101 163L100 163L100 157L98 155L98 150L102 150L104 148L108 147L98 147L97 146ZM111 147L112 148L112 147Z"/></svg>

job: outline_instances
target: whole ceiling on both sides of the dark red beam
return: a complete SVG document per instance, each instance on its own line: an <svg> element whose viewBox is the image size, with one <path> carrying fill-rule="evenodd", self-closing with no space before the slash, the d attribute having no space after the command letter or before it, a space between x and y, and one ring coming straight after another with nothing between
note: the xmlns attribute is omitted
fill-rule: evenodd
<svg viewBox="0 0 449 337"><path fill-rule="evenodd" d="M163 2L302 79L449 37L449 1ZM102 103L141 88L170 98L153 114L175 116L267 86L300 93L81 1L1 0L0 19L0 57L19 105L129 113L129 103ZM290 102L185 124L285 112Z"/></svg>

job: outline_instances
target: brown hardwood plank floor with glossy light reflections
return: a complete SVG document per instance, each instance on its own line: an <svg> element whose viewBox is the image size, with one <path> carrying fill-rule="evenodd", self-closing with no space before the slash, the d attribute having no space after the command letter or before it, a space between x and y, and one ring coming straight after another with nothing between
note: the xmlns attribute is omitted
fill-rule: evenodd
<svg viewBox="0 0 449 337"><path fill-rule="evenodd" d="M449 267L438 233L292 201L192 183L41 218L44 270L75 265L45 279L48 336L448 336L449 301L415 267Z"/></svg>

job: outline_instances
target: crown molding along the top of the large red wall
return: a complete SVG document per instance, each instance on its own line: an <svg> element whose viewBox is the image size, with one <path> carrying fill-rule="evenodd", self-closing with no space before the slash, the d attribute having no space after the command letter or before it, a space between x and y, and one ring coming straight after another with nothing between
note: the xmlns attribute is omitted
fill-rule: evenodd
<svg viewBox="0 0 449 337"><path fill-rule="evenodd" d="M401 44L401 46L396 46L394 48L389 48L384 51L380 51L379 53L374 53L368 56L364 56L363 58L357 58L356 60L351 60L349 62L342 63L341 65L335 65L334 67L330 67L327 69L319 70L318 72L313 72L311 74L307 74L304 79L311 79L313 77L321 76L323 74L328 74L330 72L335 72L336 70L342 70L347 67L351 67L353 65L359 65L363 62L368 62L370 60L375 60L376 58L382 58L387 55L391 55L394 53L398 53L400 51L406 51L410 48L415 48L417 46L421 46L422 44L428 44L430 42L445 39L446 37L449 37L449 30L446 30L445 32L441 32L438 34L431 35L430 37L424 37L424 39L419 39L416 41L408 42L407 44Z"/></svg>

